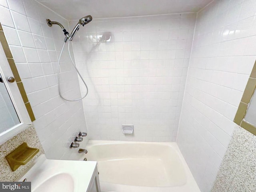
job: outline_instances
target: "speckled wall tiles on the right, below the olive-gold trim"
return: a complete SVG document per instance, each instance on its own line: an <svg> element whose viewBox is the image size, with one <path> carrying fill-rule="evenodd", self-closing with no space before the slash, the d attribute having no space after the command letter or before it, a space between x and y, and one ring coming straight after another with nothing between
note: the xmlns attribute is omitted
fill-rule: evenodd
<svg viewBox="0 0 256 192"><path fill-rule="evenodd" d="M256 192L256 136L238 125L212 192Z"/></svg>

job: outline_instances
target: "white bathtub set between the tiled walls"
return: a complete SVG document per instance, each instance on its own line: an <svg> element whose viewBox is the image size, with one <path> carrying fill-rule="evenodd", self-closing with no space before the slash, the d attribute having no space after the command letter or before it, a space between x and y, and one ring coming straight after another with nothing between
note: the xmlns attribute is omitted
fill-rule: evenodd
<svg viewBox="0 0 256 192"><path fill-rule="evenodd" d="M175 142L90 140L102 192L200 192Z"/></svg>

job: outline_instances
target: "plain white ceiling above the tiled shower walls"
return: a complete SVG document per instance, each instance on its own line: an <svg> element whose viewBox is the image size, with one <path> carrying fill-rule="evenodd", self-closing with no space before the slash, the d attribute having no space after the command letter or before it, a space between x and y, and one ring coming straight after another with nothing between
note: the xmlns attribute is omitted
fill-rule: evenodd
<svg viewBox="0 0 256 192"><path fill-rule="evenodd" d="M68 20L197 12L212 0L37 0Z"/></svg>

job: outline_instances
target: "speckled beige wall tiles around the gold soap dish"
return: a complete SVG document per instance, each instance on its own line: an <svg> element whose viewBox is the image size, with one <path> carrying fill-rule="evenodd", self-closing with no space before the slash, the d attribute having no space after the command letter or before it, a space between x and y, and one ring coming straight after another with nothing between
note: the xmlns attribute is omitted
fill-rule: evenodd
<svg viewBox="0 0 256 192"><path fill-rule="evenodd" d="M16 149L23 142L26 142L28 146L32 148L38 148L39 152L26 165L22 165L16 171L12 172L5 156ZM22 173L24 173L24 171L26 171L28 166L30 166L30 164L43 153L44 150L33 125L9 139L0 145L0 181L15 181L22 175Z"/></svg>

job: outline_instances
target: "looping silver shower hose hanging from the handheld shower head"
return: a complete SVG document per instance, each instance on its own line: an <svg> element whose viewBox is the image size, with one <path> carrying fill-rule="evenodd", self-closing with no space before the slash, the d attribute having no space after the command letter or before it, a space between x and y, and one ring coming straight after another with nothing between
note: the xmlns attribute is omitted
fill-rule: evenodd
<svg viewBox="0 0 256 192"><path fill-rule="evenodd" d="M69 43L70 43L70 40L68 40L68 54L69 54L69 57L70 57L70 60L76 70L76 72L78 73L78 75L80 76L80 78L82 79L82 82L84 83L84 85L86 86L86 94L82 97L82 98L79 98L79 99L75 99L75 100L69 100L69 99L66 99L62 96L61 92L60 92L60 58L62 56L62 53L63 53L63 50L64 50L64 47L65 47L65 44L66 42L64 42L63 46L62 46L62 49L60 51L60 56L59 56L59 59L58 59L58 66L57 66L57 76L58 76L58 92L59 92L59 95L62 99L66 100L66 101L79 101L79 100L82 100L83 98L85 98L88 94L88 87L86 85L86 82L84 82L84 79L82 78L82 75L80 74L80 72L78 71L78 69L76 68L76 65L74 63L74 61L72 60L72 57L71 57L71 54L70 54L70 48L69 48Z"/></svg>

